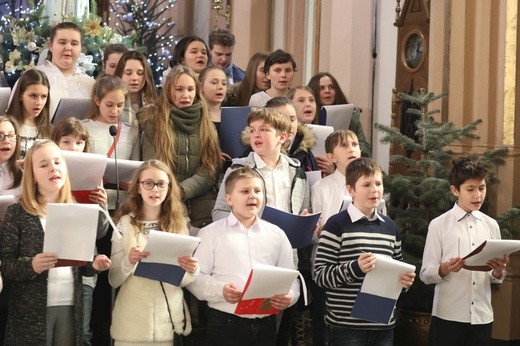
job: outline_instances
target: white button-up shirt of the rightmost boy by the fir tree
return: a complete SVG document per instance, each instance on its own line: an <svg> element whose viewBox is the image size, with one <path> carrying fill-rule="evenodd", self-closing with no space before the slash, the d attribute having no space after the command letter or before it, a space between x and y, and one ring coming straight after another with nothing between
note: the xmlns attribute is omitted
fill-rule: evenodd
<svg viewBox="0 0 520 346"><path fill-rule="evenodd" d="M491 271L466 269L439 275L441 263L466 256L487 239L500 239L498 223L480 211L467 213L457 204L430 222L420 277L435 284L433 316L471 324L493 322L490 283L502 282L505 271L500 279Z"/></svg>

